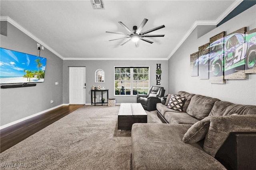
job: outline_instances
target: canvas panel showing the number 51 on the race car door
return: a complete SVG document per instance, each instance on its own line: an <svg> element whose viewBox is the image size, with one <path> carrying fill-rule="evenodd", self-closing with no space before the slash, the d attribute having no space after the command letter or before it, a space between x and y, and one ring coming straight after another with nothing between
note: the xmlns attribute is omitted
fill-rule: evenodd
<svg viewBox="0 0 256 170"><path fill-rule="evenodd" d="M224 79L246 79L245 74L246 27L224 37Z"/></svg>

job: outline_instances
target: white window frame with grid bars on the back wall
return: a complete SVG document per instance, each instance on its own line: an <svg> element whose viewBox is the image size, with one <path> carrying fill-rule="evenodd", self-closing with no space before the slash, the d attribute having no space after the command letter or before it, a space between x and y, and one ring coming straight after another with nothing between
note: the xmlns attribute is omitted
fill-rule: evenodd
<svg viewBox="0 0 256 170"><path fill-rule="evenodd" d="M130 80L124 80L125 83L130 82L129 83L130 84L130 86L129 86L130 94L116 94L116 83L115 83L117 81L116 80L116 68L130 68ZM133 83L138 82L138 80L134 80L133 68L148 68L148 73L144 73L144 72L142 73L142 74L148 74L148 80L146 80L146 81L148 81L148 84L147 84L148 88L144 88L144 84L142 86L142 89L146 89L148 92L148 90L150 88L150 67L149 66L114 66L114 96L137 96L137 94L134 95L133 93L131 93L135 89L135 87L133 87ZM122 74L122 73L120 72L120 74ZM125 73L125 74L127 74L127 73ZM119 80L119 81L121 81L121 80ZM141 80L141 81L144 82L145 80ZM127 87L127 86L125 86L125 87ZM125 91L125 93L126 93L126 91Z"/></svg>

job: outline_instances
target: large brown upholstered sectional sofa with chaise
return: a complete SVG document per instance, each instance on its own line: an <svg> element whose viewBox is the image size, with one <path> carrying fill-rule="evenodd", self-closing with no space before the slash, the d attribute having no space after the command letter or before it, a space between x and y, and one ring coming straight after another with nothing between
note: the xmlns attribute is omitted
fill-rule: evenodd
<svg viewBox="0 0 256 170"><path fill-rule="evenodd" d="M134 170L256 169L256 106L178 92L156 105L163 123L132 125Z"/></svg>

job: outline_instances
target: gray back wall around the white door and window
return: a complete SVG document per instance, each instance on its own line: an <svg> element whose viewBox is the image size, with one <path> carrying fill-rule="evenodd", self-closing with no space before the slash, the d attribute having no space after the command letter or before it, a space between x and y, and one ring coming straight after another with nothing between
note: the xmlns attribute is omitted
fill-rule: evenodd
<svg viewBox="0 0 256 170"><path fill-rule="evenodd" d="M136 96L114 96L114 66L149 66L150 86L156 86L156 64L161 64L161 85L168 92L168 62L167 61L63 61L63 103L69 103L69 66L86 67L86 104L91 103L90 88L92 85L104 86L108 89L109 98L115 98L117 103L136 102ZM105 72L105 82L95 83L94 73L97 69Z"/></svg>

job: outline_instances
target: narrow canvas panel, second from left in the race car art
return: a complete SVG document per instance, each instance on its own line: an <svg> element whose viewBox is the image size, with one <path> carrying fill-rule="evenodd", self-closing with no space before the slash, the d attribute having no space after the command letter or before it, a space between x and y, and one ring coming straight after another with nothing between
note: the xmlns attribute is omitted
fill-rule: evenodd
<svg viewBox="0 0 256 170"><path fill-rule="evenodd" d="M209 79L209 43L198 47L198 76Z"/></svg>

